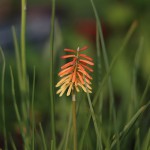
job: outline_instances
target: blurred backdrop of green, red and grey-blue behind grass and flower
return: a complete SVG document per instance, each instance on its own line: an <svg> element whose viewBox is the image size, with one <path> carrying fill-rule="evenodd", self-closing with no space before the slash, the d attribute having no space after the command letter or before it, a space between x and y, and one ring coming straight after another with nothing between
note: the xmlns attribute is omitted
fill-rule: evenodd
<svg viewBox="0 0 150 150"><path fill-rule="evenodd" d="M120 105L126 105L130 102L133 68L135 65L136 52L141 45L139 56L139 64L137 66L137 95L140 99L146 86L148 76L150 75L150 1L149 0L94 0L99 18L102 22L102 29L106 43L109 62L112 61L117 51L122 45L123 39L130 27L136 21L138 26L130 39L126 50L120 55L112 70L112 81L115 93L115 103L117 104L118 113ZM11 94L11 78L9 66L11 65L14 72L15 89L18 105L20 104L20 93L17 80L16 59L14 51L14 43L12 36L12 25L15 26L17 37L20 39L20 17L21 3L19 0L1 0L0 1L0 46L3 48L6 57L6 76L5 76L5 106L6 106L6 127L8 133L12 134L19 145L17 139L17 121L14 112L12 94ZM36 68L36 84L35 84L35 118L36 122L42 122L46 136L49 137L49 37L50 37L50 19L51 19L51 1L50 0L27 0L27 25L26 25L26 60L27 72L32 88L33 68ZM57 73L63 63L59 59L64 48L76 49L78 46L89 46L89 54L94 58L96 63L96 21L90 0L56 0L56 18L55 18L55 41L54 41L54 76L55 83L58 81ZM98 78L105 75L105 67L102 63L101 76L97 76L97 68L95 65L93 89L96 89ZM0 76L2 70L2 61L0 57ZM55 89L56 90L56 89ZM31 94L31 93L30 93ZM79 94L82 97L83 93ZM95 91L93 90L93 94ZM31 96L31 95L30 95ZM149 92L146 94L145 102L150 97ZM63 99L63 101L61 100ZM104 99L108 99L107 88L104 90ZM55 95L55 112L56 112L56 133L59 143L63 131L68 120L70 111L70 98L63 96L59 98ZM80 99L79 99L80 101ZM84 103L84 102L80 102ZM144 103L143 103L144 104ZM120 107L121 109L123 107ZM105 108L107 112L107 108ZM86 112L83 109L81 116ZM63 113L63 115L62 115ZM134 114L134 112L133 112ZM1 112L0 112L1 115ZM127 114L126 114L127 115ZM107 116L107 115L106 115ZM125 123L124 118L120 117L120 129ZM1 122L1 120L0 120ZM81 122L84 122L83 120ZM144 122L144 121L143 121ZM83 125L82 125L83 126ZM81 126L81 129L82 129ZM150 116L146 117L143 124L147 132L150 126ZM62 130L63 129L63 130ZM0 147L3 147L2 124L0 123ZM132 145L132 144L129 144Z"/></svg>

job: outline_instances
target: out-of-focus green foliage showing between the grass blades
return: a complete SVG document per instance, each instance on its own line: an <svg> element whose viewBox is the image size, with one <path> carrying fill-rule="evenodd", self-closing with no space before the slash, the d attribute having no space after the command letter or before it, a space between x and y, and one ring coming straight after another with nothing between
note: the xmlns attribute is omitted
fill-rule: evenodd
<svg viewBox="0 0 150 150"><path fill-rule="evenodd" d="M117 130L122 131L123 127L128 123L132 116L139 110L139 108L149 101L149 92L146 93L143 102L141 103L141 97L146 87L148 77L150 75L150 1L148 0L133 0L133 1L109 1L109 0L95 0L96 8L99 13L99 17L102 19L102 27L104 31L104 39L106 42L106 49L108 53L109 62L113 60L117 54L119 48L123 43L123 39L132 24L133 21L137 21L138 26L130 39L129 43L125 47L124 52L119 56L112 71L112 84L114 90L114 109L116 110L116 122ZM27 6L48 6L51 9L51 3L48 0L27 1ZM87 23L88 20L88 23ZM94 24L95 16L93 9L89 1L78 0L65 0L56 1L56 26L55 26L55 51L54 51L54 77L55 83L58 81L57 73L60 70L60 66L64 63L60 59L60 56L64 54L64 48L76 49L78 46L89 46L87 53L94 58L95 68L93 74L93 94L94 97L97 89L99 88L98 79L102 79L106 75L106 69L104 67L104 60L101 56L101 76L97 75L97 54L96 54L96 42L94 36L96 32L84 34L81 32L84 27L88 28L89 22ZM81 26L83 25L83 26ZM93 26L89 26L93 28ZM89 38L90 37L90 38ZM27 73L30 81L30 91L32 89L33 80L33 68L36 70L36 82L35 82L35 123L36 123L36 144L37 148L42 149L42 142L39 135L39 122L42 123L45 138L47 144L50 142L50 104L49 104L49 39L41 45L39 50L36 44L29 43L27 40ZM140 56L138 58L137 68L135 68L135 61L137 52L140 50ZM38 49L38 50L37 50ZM6 75L5 75L5 110L6 110L6 128L9 133L14 137L16 145L22 145L19 141L20 133L18 133L18 123L13 107L12 93L11 93L11 78L9 66L12 66L15 80L15 91L17 104L20 106L20 91L18 85L17 69L15 54L5 53L6 57ZM0 57L1 58L1 57ZM1 77L1 59L0 59L0 77ZM134 69L136 73L134 74ZM136 87L134 87L134 78L136 78ZM134 89L135 88L135 89ZM54 88L55 89L55 88ZM134 90L136 91L136 98L134 97ZM56 91L56 89L55 89ZM148 85L149 91L149 85ZM31 97L30 92L30 97ZM114 124L112 120L109 120L109 92L107 84L103 88L102 95L102 112L100 112L101 102L98 101L94 107L96 119L99 124L99 128L103 129L102 135L103 143L111 142L115 133ZM133 100L134 97L134 100ZM77 96L77 103L79 110L77 113L77 126L78 126L78 141L81 140L82 131L85 128L85 122L88 119L89 107L87 104L86 95L79 93ZM136 105L135 105L136 104ZM133 108L132 108L133 106ZM59 98L55 95L55 121L56 121L56 138L57 145L59 146L63 135L67 132L68 120L70 115L71 99L70 97L63 96ZM20 109L20 107L19 107ZM100 113L102 113L102 122L100 120ZM146 136L149 137L150 116L149 109L142 115L139 121L130 130L124 142L120 144L120 149L136 149L137 139L140 139L140 149L146 141ZM0 112L1 114L1 112ZM1 122L1 121L0 121ZM112 124L109 124L112 123ZM149 131L149 132L148 132ZM19 134L19 137L18 137ZM110 135L109 135L110 134ZM135 135L136 134L136 135ZM0 124L0 135L2 135L2 124ZM72 134L71 134L72 135ZM70 139L71 139L70 135ZM108 137L108 139L107 139ZM3 136L0 138L3 139ZM70 140L69 139L69 140ZM148 138L147 138L148 139ZM9 142L10 143L10 142ZM105 144L106 144L105 143ZM0 143L1 144L1 143ZM71 147L71 140L69 146ZM105 145L104 144L104 145ZM110 144L110 143L109 143ZM108 145L109 145L108 144ZM1 145L0 145L1 146ZM41 147L40 147L41 146ZM86 138L84 140L84 149L94 150L96 149L96 135L93 126L93 122L90 122ZM144 147L144 146L143 146ZM144 148L143 148L144 150Z"/></svg>

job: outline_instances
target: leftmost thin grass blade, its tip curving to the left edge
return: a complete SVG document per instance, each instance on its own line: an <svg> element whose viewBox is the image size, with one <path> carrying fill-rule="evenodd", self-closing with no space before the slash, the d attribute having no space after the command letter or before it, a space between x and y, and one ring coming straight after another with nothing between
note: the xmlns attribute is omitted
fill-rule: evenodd
<svg viewBox="0 0 150 150"><path fill-rule="evenodd" d="M1 79L1 95L2 95L2 122L3 122L3 135L4 135L4 141L5 141L5 149L8 149L7 144L7 134L6 134L6 117L5 117L5 94L4 94L4 85L5 85L5 68L6 68L6 62L5 62L5 56L3 53L2 48L0 47L0 53L2 56L2 79Z"/></svg>

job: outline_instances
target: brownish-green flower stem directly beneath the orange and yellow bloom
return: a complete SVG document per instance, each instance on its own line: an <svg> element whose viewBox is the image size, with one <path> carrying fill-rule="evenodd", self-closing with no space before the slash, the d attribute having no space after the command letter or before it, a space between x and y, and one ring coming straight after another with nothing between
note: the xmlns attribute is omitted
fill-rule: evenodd
<svg viewBox="0 0 150 150"><path fill-rule="evenodd" d="M74 92L72 92L72 123L74 150L77 150L76 97Z"/></svg>

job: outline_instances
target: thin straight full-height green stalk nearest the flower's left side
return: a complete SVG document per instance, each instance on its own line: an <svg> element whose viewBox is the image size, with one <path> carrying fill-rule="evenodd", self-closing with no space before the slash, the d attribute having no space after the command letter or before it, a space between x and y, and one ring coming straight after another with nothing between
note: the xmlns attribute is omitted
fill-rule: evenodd
<svg viewBox="0 0 150 150"><path fill-rule="evenodd" d="M54 19L55 19L55 0L52 0L52 15L51 15L51 34L50 34L50 110L51 110L51 131L54 150L56 149L56 136L55 136L55 105L54 105L54 75L53 75L53 51L54 51Z"/></svg>

